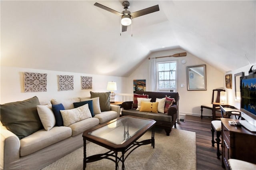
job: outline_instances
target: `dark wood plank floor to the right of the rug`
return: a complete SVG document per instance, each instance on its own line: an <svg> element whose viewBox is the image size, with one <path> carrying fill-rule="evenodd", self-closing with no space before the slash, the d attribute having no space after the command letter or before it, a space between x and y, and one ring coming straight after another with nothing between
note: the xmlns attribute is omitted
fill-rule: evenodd
<svg viewBox="0 0 256 170"><path fill-rule="evenodd" d="M196 165L198 170L224 170L221 159L217 159L216 144L212 147L211 118L188 116L184 123L177 124L178 129L196 132ZM216 134L214 135L216 137ZM221 158L221 157L220 157Z"/></svg>

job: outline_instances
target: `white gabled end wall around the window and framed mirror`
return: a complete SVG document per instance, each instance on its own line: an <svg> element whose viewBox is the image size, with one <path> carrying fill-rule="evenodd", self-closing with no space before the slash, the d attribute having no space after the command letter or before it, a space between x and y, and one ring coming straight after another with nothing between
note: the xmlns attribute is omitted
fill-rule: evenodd
<svg viewBox="0 0 256 170"><path fill-rule="evenodd" d="M150 54L148 57L160 57L166 55L172 55L175 53L186 52L183 49L173 49L168 51L159 51ZM182 59L186 60L185 64L182 64ZM212 90L217 88L224 89L225 79L224 73L212 67L211 65L200 60L198 57L187 52L186 57L165 57L157 59L159 61L177 61L177 91L180 95L179 101L179 113L180 115L201 115L200 106L203 104L210 104L212 100ZM149 64L148 58L128 77L126 80L126 93L133 93L133 80L134 79L146 79L146 90L150 88L149 77ZM206 64L206 83L207 91L188 91L186 80L186 67L192 65ZM180 87L184 84L184 87ZM204 115L212 115L208 109L204 110Z"/></svg>

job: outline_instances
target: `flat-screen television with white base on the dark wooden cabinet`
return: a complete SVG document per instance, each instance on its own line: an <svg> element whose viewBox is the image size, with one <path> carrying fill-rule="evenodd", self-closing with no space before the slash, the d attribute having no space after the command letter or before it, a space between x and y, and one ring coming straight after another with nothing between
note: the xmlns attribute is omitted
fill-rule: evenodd
<svg viewBox="0 0 256 170"><path fill-rule="evenodd" d="M256 74L240 78L241 117L240 123L250 131L256 132Z"/></svg>

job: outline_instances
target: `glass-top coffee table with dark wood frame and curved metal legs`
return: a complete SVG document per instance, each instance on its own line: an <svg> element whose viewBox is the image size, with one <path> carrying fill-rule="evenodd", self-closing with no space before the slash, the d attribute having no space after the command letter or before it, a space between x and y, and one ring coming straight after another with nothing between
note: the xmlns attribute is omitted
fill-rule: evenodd
<svg viewBox="0 0 256 170"><path fill-rule="evenodd" d="M124 161L130 153L139 146L150 144L155 147L154 125L156 121L151 119L143 119L139 117L123 116L108 123L98 125L97 127L86 130L83 133L84 138L84 170L86 163L94 162L101 159L112 160L116 163L122 162L122 170L124 170ZM138 142L137 140L152 129L151 139ZM103 154L96 154L86 157L86 140L109 149ZM122 155L118 157L118 152ZM127 154L126 154L127 152ZM124 155L126 154L126 156Z"/></svg>

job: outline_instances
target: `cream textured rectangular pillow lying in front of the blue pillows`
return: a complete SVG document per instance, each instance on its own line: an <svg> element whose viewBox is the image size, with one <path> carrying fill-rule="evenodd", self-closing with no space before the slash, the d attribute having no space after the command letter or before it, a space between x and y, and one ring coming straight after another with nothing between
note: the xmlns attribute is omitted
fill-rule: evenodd
<svg viewBox="0 0 256 170"><path fill-rule="evenodd" d="M63 125L69 125L92 117L88 104L82 105L75 109L60 111L63 119Z"/></svg>

